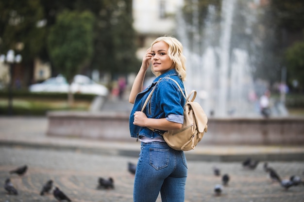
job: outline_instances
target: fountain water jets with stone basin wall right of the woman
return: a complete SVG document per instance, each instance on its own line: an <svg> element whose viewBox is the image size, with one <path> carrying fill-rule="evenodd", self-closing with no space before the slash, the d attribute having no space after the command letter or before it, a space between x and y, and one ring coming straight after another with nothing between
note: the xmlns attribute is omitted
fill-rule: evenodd
<svg viewBox="0 0 304 202"><path fill-rule="evenodd" d="M304 142L302 118L260 115L258 97L266 87L257 86L252 75L256 50L263 45L253 31L259 25L255 2L221 0L206 6L192 0L177 15L177 38L187 59L186 89L198 92L196 101L208 116L204 144Z"/></svg>

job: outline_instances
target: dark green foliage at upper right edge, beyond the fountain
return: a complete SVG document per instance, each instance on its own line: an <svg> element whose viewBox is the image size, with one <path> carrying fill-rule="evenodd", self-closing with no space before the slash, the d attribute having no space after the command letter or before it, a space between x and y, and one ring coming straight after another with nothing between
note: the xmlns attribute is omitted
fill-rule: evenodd
<svg viewBox="0 0 304 202"><path fill-rule="evenodd" d="M278 44L281 45L281 60L287 67L287 82L299 82L298 90L304 89L304 1L273 0L273 22L277 26ZM278 49L278 48L277 48ZM289 85L291 86L291 85Z"/></svg>

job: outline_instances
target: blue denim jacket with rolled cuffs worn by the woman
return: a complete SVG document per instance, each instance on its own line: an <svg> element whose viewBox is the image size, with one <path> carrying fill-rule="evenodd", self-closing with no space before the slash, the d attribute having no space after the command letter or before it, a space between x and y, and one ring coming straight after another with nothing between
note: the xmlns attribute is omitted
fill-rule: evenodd
<svg viewBox="0 0 304 202"><path fill-rule="evenodd" d="M157 137L162 137L161 135L165 132L163 130L157 129L152 131L147 127L140 127L133 124L135 111L141 111L146 98L160 78L163 79L157 83L155 90L152 93L152 97L143 112L147 115L148 118L166 118L171 122L180 124L184 123L183 114L186 99L184 98L176 83L170 79L166 79L165 77L170 77L176 80L185 93L183 82L178 77L178 73L175 69L169 70L168 72L155 78L148 88L136 95L134 106L129 117L129 127L132 138L145 136L147 138L154 139Z"/></svg>

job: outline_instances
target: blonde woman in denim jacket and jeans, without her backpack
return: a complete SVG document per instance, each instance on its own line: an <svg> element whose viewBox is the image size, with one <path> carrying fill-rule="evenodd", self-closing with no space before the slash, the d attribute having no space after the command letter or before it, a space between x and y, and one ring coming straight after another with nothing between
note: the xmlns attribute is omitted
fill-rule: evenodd
<svg viewBox="0 0 304 202"><path fill-rule="evenodd" d="M162 202L184 202L185 199L185 154L170 148L162 138L165 131L180 129L184 120L186 99L174 81L166 78L176 80L185 93L183 80L186 79L186 67L182 51L183 46L177 39L170 36L157 38L146 51L131 89L129 102L134 107L130 114L130 133L131 137L141 141L134 202L155 202L159 192ZM150 64L157 78L143 91L143 81ZM141 112L155 84L152 97Z"/></svg>

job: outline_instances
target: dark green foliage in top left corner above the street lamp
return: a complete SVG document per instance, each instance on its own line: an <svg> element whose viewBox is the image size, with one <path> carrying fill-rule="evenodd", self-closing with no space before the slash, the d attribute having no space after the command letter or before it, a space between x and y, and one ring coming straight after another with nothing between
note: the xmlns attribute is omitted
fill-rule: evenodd
<svg viewBox="0 0 304 202"><path fill-rule="evenodd" d="M46 28L37 24L43 17L40 0L0 0L0 52L15 49L23 62L33 60L44 45Z"/></svg>

